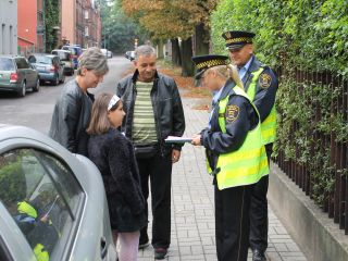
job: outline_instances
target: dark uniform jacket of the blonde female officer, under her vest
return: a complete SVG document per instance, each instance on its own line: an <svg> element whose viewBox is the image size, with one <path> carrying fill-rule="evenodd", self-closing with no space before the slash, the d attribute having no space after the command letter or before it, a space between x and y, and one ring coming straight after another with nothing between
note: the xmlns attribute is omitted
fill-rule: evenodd
<svg viewBox="0 0 348 261"><path fill-rule="evenodd" d="M219 154L238 150L248 132L259 123L252 104L247 98L236 95L233 90L234 86L233 82L227 80L219 98L220 101L229 95L227 108L234 109L226 110L224 115L226 133L222 133L219 125L219 101L212 105L211 128L201 132L201 144L207 149L208 161L212 170L216 165Z"/></svg>

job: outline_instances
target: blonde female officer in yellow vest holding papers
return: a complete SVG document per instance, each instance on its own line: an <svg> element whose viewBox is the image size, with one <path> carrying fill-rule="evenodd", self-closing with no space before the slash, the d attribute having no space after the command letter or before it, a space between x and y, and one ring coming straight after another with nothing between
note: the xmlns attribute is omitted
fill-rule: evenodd
<svg viewBox="0 0 348 261"><path fill-rule="evenodd" d="M209 126L192 145L204 146L208 171L214 176L217 260L241 261L248 257L251 190L269 165L258 111L227 59L192 58L196 77L214 92Z"/></svg>

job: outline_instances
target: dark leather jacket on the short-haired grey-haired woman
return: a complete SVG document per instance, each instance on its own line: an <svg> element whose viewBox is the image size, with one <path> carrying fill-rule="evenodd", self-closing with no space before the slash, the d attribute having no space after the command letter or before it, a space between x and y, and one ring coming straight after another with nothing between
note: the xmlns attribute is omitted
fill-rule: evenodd
<svg viewBox="0 0 348 261"><path fill-rule="evenodd" d="M94 95L85 94L77 82L65 84L54 107L49 136L73 153L87 156Z"/></svg>

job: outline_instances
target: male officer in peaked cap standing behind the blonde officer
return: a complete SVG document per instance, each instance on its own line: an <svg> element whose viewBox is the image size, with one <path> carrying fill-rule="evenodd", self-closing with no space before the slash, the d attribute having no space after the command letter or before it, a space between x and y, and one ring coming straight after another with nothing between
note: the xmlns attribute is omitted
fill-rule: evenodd
<svg viewBox="0 0 348 261"><path fill-rule="evenodd" d="M278 82L273 71L253 55L253 33L231 30L222 36L226 40L232 62L238 67L245 91L260 113L261 132L270 162L276 130L274 101ZM249 243L253 261L266 260L264 252L268 248L269 227L268 188L269 175L265 175L253 187L251 195Z"/></svg>

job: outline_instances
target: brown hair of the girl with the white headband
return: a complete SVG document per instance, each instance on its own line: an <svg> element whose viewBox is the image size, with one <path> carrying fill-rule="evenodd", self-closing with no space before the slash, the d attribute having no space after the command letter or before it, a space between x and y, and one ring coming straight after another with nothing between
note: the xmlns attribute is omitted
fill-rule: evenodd
<svg viewBox="0 0 348 261"><path fill-rule="evenodd" d="M112 97L112 94L103 92L95 100L91 108L89 126L86 129L89 135L104 134L111 127L111 123L108 117L108 105ZM119 100L117 103L110 109L110 111L116 110L121 102L122 101Z"/></svg>

